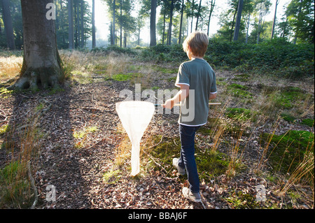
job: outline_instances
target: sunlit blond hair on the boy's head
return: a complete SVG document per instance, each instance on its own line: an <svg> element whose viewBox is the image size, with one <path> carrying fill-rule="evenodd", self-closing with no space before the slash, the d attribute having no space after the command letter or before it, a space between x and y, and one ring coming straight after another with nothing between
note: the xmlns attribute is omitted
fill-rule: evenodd
<svg viewBox="0 0 315 223"><path fill-rule="evenodd" d="M204 57L209 44L207 34L201 31L195 31L187 36L183 42L183 50L188 52L188 46L195 57Z"/></svg>

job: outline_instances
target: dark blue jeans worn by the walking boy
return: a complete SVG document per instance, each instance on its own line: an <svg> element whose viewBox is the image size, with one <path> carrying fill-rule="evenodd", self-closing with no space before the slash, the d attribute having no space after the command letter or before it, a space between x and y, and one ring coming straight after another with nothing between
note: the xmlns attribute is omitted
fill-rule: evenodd
<svg viewBox="0 0 315 223"><path fill-rule="evenodd" d="M195 161L195 134L199 128L179 124L179 134L181 137L179 166L186 168L190 191L194 193L200 192L200 181Z"/></svg>

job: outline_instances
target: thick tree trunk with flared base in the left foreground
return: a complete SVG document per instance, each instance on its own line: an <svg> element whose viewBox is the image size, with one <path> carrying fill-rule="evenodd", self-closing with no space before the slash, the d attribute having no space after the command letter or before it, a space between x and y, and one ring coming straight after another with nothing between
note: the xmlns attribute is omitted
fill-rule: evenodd
<svg viewBox="0 0 315 223"><path fill-rule="evenodd" d="M63 75L57 50L55 22L46 18L46 5L52 2L21 0L24 56L20 78L13 87L59 87Z"/></svg>

